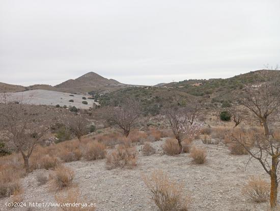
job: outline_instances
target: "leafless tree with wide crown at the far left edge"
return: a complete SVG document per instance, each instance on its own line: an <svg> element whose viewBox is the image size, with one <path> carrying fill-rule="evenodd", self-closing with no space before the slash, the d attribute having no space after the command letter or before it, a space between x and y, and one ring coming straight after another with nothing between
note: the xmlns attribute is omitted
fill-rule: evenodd
<svg viewBox="0 0 280 211"><path fill-rule="evenodd" d="M21 153L25 171L29 172L29 157L51 126L48 112L38 105L10 101L6 96L1 102L1 130L10 147Z"/></svg>

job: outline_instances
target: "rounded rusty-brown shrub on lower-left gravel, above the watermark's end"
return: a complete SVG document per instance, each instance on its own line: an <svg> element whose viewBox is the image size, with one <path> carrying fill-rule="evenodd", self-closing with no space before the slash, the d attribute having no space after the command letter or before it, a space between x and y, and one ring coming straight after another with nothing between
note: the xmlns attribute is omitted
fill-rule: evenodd
<svg viewBox="0 0 280 211"><path fill-rule="evenodd" d="M53 181L59 190L69 187L74 179L74 171L70 168L59 166L55 169Z"/></svg>

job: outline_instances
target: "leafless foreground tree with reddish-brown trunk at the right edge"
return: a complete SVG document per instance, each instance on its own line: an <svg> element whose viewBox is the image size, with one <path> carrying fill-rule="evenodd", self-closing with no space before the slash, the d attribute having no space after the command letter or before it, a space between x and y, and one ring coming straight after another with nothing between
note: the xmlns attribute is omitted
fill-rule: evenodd
<svg viewBox="0 0 280 211"><path fill-rule="evenodd" d="M270 206L277 206L277 188L278 188L278 174L280 162L280 137L276 135L274 138L268 138L263 135L255 134L254 142L246 143L244 141L244 133L231 136L231 142L242 145L250 155L251 159L256 159L260 162L266 173L270 176ZM250 161L249 160L249 161Z"/></svg>

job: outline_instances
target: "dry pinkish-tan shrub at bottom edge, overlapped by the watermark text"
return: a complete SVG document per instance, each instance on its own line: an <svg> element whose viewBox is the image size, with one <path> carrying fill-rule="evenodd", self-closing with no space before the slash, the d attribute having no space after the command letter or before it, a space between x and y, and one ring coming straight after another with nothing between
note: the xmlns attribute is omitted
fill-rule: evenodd
<svg viewBox="0 0 280 211"><path fill-rule="evenodd" d="M78 189L68 189L66 193L59 193L54 196L55 201L59 204L73 204L75 206L60 206L58 210L62 211L94 211L96 204L89 203L86 199L80 197L80 192ZM76 206L76 203L79 205ZM84 206L81 204L87 203L88 205L92 204L93 206ZM95 206L94 206L95 205Z"/></svg>

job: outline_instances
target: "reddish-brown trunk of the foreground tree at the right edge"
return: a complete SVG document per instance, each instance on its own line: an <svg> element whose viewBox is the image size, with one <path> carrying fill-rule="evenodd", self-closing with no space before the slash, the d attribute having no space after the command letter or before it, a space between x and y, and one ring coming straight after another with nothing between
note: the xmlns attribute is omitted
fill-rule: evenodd
<svg viewBox="0 0 280 211"><path fill-rule="evenodd" d="M278 181L277 181L277 157L272 156L272 165L270 170L270 207L276 207L277 205L277 188L278 188Z"/></svg>

